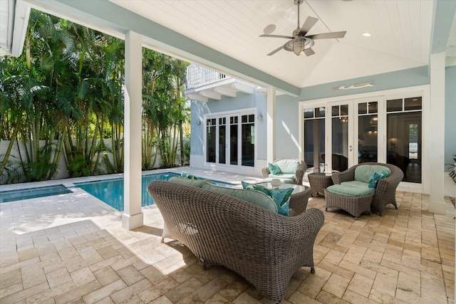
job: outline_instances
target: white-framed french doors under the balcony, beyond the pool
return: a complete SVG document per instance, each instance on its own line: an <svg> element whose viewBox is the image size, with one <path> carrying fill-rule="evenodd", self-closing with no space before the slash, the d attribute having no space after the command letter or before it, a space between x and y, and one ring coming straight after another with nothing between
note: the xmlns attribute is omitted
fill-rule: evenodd
<svg viewBox="0 0 456 304"><path fill-rule="evenodd" d="M254 167L254 113L206 118L206 162L222 166Z"/></svg>

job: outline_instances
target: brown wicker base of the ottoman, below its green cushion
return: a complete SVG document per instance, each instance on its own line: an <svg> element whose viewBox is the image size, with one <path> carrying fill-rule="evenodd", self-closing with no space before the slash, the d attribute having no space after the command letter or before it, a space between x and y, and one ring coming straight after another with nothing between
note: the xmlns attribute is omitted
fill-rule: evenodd
<svg viewBox="0 0 456 304"><path fill-rule="evenodd" d="M324 192L326 198L326 211L328 211L328 208L342 209L355 216L355 219L358 219L358 216L364 212L371 214L373 194L364 196L343 196L328 192L326 189Z"/></svg>

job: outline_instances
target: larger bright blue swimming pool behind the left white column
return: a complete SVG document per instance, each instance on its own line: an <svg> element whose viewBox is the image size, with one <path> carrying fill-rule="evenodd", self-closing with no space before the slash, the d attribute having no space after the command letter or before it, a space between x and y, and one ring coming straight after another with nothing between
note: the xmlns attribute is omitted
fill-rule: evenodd
<svg viewBox="0 0 456 304"><path fill-rule="evenodd" d="M180 174L173 172L156 173L142 175L141 182L141 206L148 206L154 204L154 201L147 192L147 185L152 181L167 181L170 177L179 177ZM234 184L225 182L212 181L213 184L219 186L230 187ZM81 182L75 183L75 187L81 188L89 194L95 196L97 199L105 202L109 206L123 211L123 178L118 179L104 179L102 181Z"/></svg>

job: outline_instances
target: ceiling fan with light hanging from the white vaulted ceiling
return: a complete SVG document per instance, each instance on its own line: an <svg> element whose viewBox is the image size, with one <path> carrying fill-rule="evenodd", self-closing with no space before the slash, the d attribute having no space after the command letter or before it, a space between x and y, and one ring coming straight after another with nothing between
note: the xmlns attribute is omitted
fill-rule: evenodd
<svg viewBox="0 0 456 304"><path fill-rule="evenodd" d="M314 39L343 38L347 33L346 31L337 31L333 33L317 33L315 35L307 36L307 33L310 31L312 26L315 25L318 19L309 16L301 28L299 28L299 5L303 2L304 0L294 0L294 4L298 6L298 27L293 31L291 36L271 35L266 33L260 35L260 37L290 39L289 41L286 41L283 46L271 51L268 56L274 55L282 48L286 51L293 51L297 56L302 55L302 53L306 54L306 56L311 56L315 53L314 50L312 50L312 46L314 46L315 43Z"/></svg>

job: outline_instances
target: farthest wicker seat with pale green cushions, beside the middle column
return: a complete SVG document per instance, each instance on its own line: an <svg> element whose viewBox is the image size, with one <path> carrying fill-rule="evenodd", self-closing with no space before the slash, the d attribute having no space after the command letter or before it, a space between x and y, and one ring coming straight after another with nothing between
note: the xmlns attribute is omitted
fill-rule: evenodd
<svg viewBox="0 0 456 304"><path fill-rule="evenodd" d="M307 170L306 162L294 158L281 158L274 160L271 164L276 164L281 169L281 172L272 174L269 171L269 167L261 168L264 182L270 182L271 179L280 179L283 183L302 184L304 173Z"/></svg>

